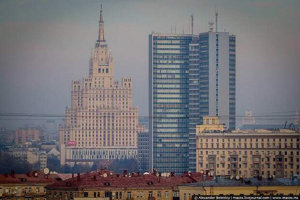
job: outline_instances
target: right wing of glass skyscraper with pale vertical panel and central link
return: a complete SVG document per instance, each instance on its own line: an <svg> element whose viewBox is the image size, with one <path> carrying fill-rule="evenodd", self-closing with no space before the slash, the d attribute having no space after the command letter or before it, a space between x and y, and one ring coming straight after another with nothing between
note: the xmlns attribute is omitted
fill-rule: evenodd
<svg viewBox="0 0 300 200"><path fill-rule="evenodd" d="M189 46L189 169L196 170L195 125L203 116L220 116L235 129L235 35L203 32Z"/></svg>

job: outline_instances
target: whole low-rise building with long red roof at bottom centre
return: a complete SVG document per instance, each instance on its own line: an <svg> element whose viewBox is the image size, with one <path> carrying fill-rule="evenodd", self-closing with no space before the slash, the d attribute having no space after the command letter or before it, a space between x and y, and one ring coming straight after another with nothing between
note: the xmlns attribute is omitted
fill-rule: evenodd
<svg viewBox="0 0 300 200"><path fill-rule="evenodd" d="M203 180L199 172L152 174L115 174L112 171L93 171L46 187L47 200L75 198L109 198L120 200L179 200L178 185Z"/></svg>

